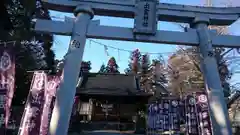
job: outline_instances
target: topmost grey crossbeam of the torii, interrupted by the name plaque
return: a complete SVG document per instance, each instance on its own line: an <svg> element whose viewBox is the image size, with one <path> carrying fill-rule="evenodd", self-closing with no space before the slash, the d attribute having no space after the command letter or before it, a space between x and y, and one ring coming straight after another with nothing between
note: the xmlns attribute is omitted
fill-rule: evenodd
<svg viewBox="0 0 240 135"><path fill-rule="evenodd" d="M136 0L42 0L49 9L73 12L77 5L90 5L95 15L134 18ZM157 5L160 21L192 23L196 15L207 16L210 25L231 25L240 16L240 7L201 7L178 4Z"/></svg>

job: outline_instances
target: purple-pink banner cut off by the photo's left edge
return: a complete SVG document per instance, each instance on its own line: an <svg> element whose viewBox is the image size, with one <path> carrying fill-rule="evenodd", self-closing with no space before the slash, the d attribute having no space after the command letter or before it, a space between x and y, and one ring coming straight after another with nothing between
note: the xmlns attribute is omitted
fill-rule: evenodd
<svg viewBox="0 0 240 135"><path fill-rule="evenodd" d="M15 88L14 42L0 46L0 127L7 128Z"/></svg>

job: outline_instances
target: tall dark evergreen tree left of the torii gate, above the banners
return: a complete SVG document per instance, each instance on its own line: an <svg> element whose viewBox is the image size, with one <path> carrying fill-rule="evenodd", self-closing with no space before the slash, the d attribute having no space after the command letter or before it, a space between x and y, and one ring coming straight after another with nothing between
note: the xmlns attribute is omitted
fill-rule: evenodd
<svg viewBox="0 0 240 135"><path fill-rule="evenodd" d="M32 73L27 71L54 71L54 52L51 50L53 37L50 34L37 34L33 31L34 18L50 19L48 10L40 0L8 0L5 3L13 30L9 30L4 41L17 41L16 55L16 91L13 105L21 105L27 98Z"/></svg>

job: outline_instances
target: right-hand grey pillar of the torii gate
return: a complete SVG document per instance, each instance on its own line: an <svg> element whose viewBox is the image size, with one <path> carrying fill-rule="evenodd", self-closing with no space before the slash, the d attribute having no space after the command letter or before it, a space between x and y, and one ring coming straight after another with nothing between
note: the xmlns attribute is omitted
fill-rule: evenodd
<svg viewBox="0 0 240 135"><path fill-rule="evenodd" d="M232 135L228 109L218 72L212 39L208 30L209 18L196 17L192 26L199 37L201 70L209 100L209 112L214 135Z"/></svg>

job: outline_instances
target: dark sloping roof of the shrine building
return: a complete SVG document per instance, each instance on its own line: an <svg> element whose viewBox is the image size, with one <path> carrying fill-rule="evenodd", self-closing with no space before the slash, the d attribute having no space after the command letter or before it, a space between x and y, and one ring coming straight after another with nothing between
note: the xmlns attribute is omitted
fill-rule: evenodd
<svg viewBox="0 0 240 135"><path fill-rule="evenodd" d="M151 96L137 89L135 76L126 74L88 73L84 75L78 94Z"/></svg>

